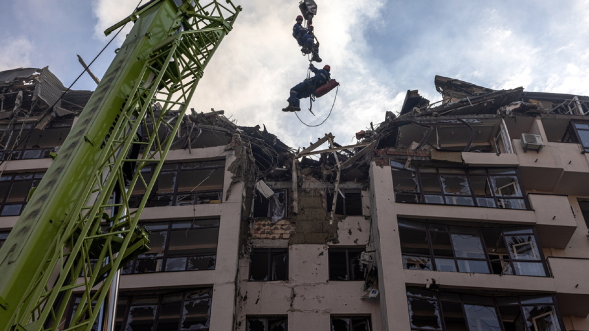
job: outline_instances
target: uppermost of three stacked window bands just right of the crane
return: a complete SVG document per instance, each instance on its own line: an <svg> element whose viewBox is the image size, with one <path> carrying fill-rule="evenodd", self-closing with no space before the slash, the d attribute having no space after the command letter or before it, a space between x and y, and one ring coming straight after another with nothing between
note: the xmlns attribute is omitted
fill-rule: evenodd
<svg viewBox="0 0 589 331"><path fill-rule="evenodd" d="M146 182L153 168L141 170ZM225 160L166 163L160 170L145 207L187 206L221 203ZM138 207L145 193L143 184L133 190L130 204Z"/></svg>

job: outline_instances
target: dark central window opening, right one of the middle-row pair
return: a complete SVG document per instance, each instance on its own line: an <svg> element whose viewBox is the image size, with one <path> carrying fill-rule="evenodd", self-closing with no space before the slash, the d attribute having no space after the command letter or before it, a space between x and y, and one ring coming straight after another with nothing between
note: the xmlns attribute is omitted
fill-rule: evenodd
<svg viewBox="0 0 589 331"><path fill-rule="evenodd" d="M360 263L363 251L363 248L330 248L329 280L364 280L365 267Z"/></svg>

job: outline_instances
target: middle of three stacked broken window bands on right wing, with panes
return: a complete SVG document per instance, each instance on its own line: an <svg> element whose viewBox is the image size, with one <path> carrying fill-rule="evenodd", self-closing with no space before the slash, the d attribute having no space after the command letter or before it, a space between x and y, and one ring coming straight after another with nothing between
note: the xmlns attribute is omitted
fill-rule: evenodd
<svg viewBox="0 0 589 331"><path fill-rule="evenodd" d="M399 220L403 268L548 276L533 227Z"/></svg>

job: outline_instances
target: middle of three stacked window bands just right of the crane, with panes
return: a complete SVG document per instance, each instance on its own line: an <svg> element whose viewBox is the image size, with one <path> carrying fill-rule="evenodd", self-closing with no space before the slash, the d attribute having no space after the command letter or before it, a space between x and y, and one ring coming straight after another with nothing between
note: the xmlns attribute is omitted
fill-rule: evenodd
<svg viewBox="0 0 589 331"><path fill-rule="evenodd" d="M148 222L150 250L129 262L123 273L213 270L219 219Z"/></svg>

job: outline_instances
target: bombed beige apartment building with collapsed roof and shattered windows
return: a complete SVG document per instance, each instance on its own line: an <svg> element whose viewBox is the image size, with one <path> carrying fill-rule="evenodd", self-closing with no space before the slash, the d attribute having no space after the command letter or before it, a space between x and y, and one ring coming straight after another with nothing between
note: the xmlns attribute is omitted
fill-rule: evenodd
<svg viewBox="0 0 589 331"><path fill-rule="evenodd" d="M346 146L187 114L115 330L589 330L589 97L435 86ZM91 94L64 91L0 72L0 244Z"/></svg>

